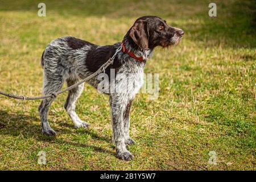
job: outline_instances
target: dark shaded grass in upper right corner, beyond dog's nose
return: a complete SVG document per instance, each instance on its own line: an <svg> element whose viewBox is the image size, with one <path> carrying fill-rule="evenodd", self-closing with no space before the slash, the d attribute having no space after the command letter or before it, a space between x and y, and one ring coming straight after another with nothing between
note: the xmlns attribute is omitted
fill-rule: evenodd
<svg viewBox="0 0 256 182"><path fill-rule="evenodd" d="M234 1L217 6L217 17L202 14L200 22L186 23L184 29L192 35L193 42L202 42L204 47L255 48L256 2Z"/></svg>

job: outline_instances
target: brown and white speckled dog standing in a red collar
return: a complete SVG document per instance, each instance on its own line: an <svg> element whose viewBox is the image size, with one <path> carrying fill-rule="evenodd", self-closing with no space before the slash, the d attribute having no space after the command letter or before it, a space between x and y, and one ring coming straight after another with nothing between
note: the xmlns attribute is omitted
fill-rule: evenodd
<svg viewBox="0 0 256 182"><path fill-rule="evenodd" d="M127 144L135 141L129 135L129 113L135 94L143 84L143 68L146 60L152 56L155 47L172 47L177 45L184 35L184 31L171 27L166 20L158 16L142 16L138 18L122 42L112 46L97 46L85 40L72 36L65 36L53 40L44 49L41 64L43 67L43 94L59 91L64 82L71 86L96 72L102 64L112 57L115 51L122 46L122 51L117 52L114 62L105 69L105 74L110 76L110 69L114 69L116 90L125 89L126 84L118 79L119 73L128 75L127 79L133 84L127 92L114 92L109 94L111 107L113 142L117 157L123 160L133 159L133 154L126 149ZM100 80L97 77L88 81L88 84L97 88ZM72 119L75 127L88 127L89 123L82 121L76 114L76 101L84 89L84 84L69 90L65 110ZM48 136L55 136L55 131L49 125L47 115L50 105L55 98L42 100L39 114L42 123L42 132Z"/></svg>

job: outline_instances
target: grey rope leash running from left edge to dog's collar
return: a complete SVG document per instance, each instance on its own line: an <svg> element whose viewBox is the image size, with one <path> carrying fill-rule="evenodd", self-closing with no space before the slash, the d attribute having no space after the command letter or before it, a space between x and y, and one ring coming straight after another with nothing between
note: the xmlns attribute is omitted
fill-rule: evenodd
<svg viewBox="0 0 256 182"><path fill-rule="evenodd" d="M26 100L41 100L41 99L44 99L44 98L56 98L59 94L62 94L64 92L67 92L68 90L71 90L73 88L76 88L77 86L81 85L82 83L84 83L85 81L88 81L90 80L91 78L93 78L94 76L97 76L98 74L100 74L101 72L105 72L105 69L108 68L108 66L110 64L113 64L114 62L114 58L115 56L117 55L117 53L119 51L122 50L122 46L120 46L119 48L117 48L117 50L115 51L114 55L112 57L109 58L108 61L106 61L106 63L104 63L103 65L101 65L101 67L94 73L92 73L92 75L89 75L88 77L84 78L83 80L77 82L76 84L74 85L71 85L69 86L68 88L65 88L63 90L60 90L59 92L53 92L51 94L47 94L45 96L36 96L36 97L26 97L26 96L17 96L17 95L14 95L14 94L11 94L11 93L5 93L5 92L2 92L0 91L0 94L3 95L3 96L6 96L6 97L11 97L11 98L16 98L18 100L23 100L23 101L26 101Z"/></svg>

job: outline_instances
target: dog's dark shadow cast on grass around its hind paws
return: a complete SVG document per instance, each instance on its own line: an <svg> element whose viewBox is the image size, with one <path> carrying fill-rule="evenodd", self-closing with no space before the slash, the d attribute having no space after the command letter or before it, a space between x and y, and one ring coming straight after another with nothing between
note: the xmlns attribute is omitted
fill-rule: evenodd
<svg viewBox="0 0 256 182"><path fill-rule="evenodd" d="M38 121L38 125L35 125L33 121ZM55 129L57 135L61 134L72 134L73 131L68 128L63 129L63 127L57 127ZM83 129L79 130L80 134L88 134L90 137L96 140L103 140L106 142L110 142L108 138L98 136L96 131L92 129ZM31 115L25 114L13 114L8 113L7 111L0 110L0 134L1 135L12 135L14 137L18 137L22 134L23 138L34 138L38 141L49 142L49 143L57 143L61 146L63 144L71 145L74 147L88 147L93 148L96 152L104 152L109 154L114 154L111 150L105 150L104 148L97 146L90 146L88 144L72 142L63 139L59 139L58 137L47 137L42 134L40 129L40 119L38 117L34 117Z"/></svg>

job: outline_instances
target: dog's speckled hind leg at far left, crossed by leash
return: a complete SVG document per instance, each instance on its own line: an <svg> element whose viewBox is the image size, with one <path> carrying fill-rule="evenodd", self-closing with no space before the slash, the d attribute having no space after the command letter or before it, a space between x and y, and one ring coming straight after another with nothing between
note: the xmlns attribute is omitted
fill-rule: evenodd
<svg viewBox="0 0 256 182"><path fill-rule="evenodd" d="M47 77L44 77L44 85L43 85L43 94L51 94L54 92L58 92L61 87L63 86L63 78L60 76L59 78L56 78L55 80L47 79ZM42 100L38 110L40 114L40 119L41 119L41 125L42 125L42 132L45 135L48 136L55 136L56 133L55 131L51 128L48 122L48 111L49 107L51 106L53 100L55 98L45 98Z"/></svg>

